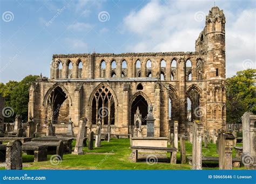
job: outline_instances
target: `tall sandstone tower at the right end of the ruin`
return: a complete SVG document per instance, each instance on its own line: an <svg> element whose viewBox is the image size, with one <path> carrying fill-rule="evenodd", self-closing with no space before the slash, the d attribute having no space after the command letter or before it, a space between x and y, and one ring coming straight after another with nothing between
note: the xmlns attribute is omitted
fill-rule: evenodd
<svg viewBox="0 0 256 184"><path fill-rule="evenodd" d="M206 16L205 28L196 41L196 51L205 52L207 80L207 121L205 127L226 127L225 15L217 6Z"/></svg>

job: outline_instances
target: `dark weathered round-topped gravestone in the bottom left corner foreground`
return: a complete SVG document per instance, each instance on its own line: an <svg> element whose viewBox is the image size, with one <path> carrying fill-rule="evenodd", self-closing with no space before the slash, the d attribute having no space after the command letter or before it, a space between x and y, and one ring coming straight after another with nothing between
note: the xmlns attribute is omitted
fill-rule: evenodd
<svg viewBox="0 0 256 184"><path fill-rule="evenodd" d="M22 143L10 141L6 145L6 169L22 169Z"/></svg>

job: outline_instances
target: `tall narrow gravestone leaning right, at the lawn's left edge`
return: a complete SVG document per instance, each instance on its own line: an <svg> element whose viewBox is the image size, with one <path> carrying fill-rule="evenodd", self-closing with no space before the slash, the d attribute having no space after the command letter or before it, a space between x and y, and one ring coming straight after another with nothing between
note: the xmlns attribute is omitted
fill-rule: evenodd
<svg viewBox="0 0 256 184"><path fill-rule="evenodd" d="M72 154L83 154L83 141L84 141L84 131L85 131L85 125L87 122L87 118L81 118L77 133L77 140L76 140L76 146L75 150L72 152Z"/></svg>

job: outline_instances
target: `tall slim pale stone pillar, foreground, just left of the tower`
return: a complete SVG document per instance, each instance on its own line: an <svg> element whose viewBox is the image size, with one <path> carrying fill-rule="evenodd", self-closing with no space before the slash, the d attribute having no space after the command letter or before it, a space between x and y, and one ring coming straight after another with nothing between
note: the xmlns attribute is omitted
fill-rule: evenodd
<svg viewBox="0 0 256 184"><path fill-rule="evenodd" d="M193 123L192 169L202 169L202 136L203 124L199 121Z"/></svg>

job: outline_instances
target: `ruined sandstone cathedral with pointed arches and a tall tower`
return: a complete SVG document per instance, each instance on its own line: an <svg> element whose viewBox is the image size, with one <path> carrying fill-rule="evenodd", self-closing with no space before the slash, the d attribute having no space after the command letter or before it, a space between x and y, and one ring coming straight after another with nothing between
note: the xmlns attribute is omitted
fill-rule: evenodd
<svg viewBox="0 0 256 184"><path fill-rule="evenodd" d="M29 117L41 132L51 121L66 133L71 118L77 133L86 117L93 130L100 118L103 132L130 134L139 109L146 137L152 104L154 137L167 137L174 121L187 133L200 120L211 133L226 126L225 63L225 15L213 7L194 52L54 54L49 79L30 87Z"/></svg>

